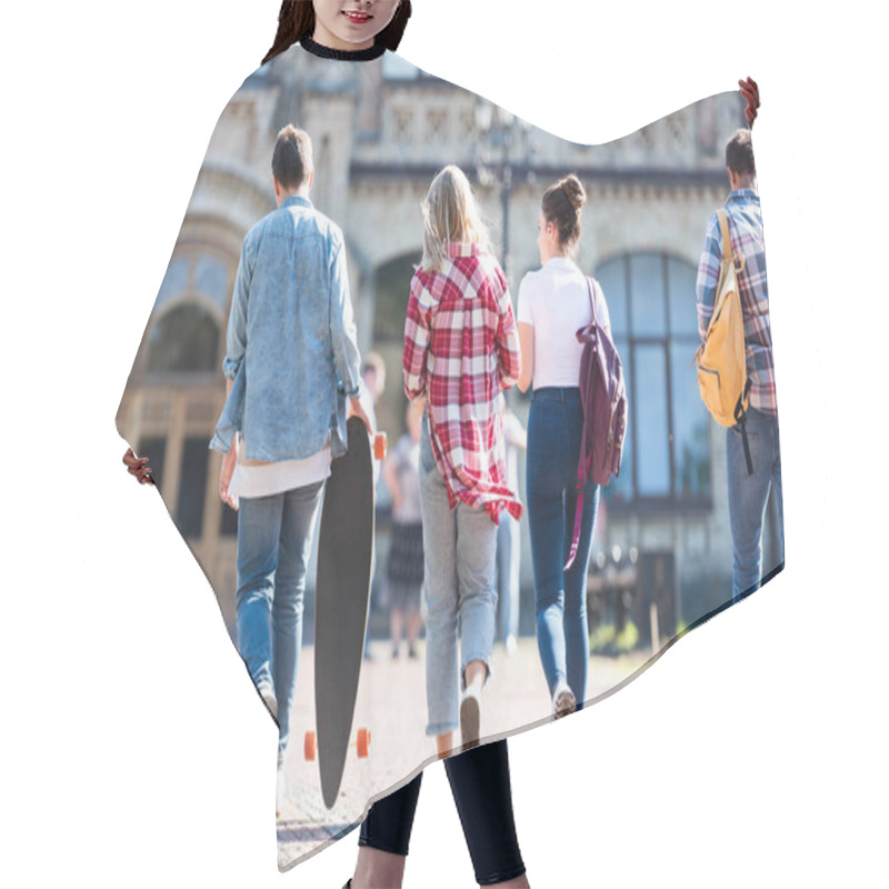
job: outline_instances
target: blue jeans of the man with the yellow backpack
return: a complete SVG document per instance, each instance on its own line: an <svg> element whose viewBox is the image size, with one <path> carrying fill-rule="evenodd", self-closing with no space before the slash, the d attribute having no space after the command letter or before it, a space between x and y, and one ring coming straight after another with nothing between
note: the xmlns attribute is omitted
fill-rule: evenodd
<svg viewBox="0 0 889 889"><path fill-rule="evenodd" d="M785 551L785 518L781 502L781 453L778 446L778 418L753 408L747 412L747 440L753 475L747 472L743 440L736 426L727 430L726 459L729 479L729 520L735 549L732 601L759 589L762 580L762 523L769 492L778 499L781 529L781 561Z"/></svg>

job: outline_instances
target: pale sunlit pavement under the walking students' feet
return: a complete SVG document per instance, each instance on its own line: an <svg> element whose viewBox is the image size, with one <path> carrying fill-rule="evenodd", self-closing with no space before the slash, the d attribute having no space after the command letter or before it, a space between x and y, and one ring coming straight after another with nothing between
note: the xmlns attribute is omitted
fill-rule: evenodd
<svg viewBox="0 0 889 889"><path fill-rule="evenodd" d="M371 643L372 660L361 670L352 741L363 727L371 732L370 755L352 747L332 809L321 798L317 760L303 755L307 730L314 729L314 649L304 646L290 722L290 743L278 776L278 865L289 869L353 830L373 798L407 783L437 759L434 738L427 738L426 652L409 659L402 643L398 660L388 641ZM650 659L640 650L620 658L592 657L588 700L628 680ZM570 717L569 717L570 718ZM495 646L491 679L482 693L481 737L495 740L552 719L552 705L533 638L519 640L508 655ZM459 745L459 731L455 732Z"/></svg>

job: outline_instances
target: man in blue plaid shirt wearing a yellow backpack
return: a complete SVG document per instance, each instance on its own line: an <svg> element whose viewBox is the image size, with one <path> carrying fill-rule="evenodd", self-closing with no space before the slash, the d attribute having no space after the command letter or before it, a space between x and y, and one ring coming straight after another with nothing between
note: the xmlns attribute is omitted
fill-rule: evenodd
<svg viewBox="0 0 889 889"><path fill-rule="evenodd" d="M772 489L782 553L776 571L783 567L783 511L762 213L750 130L731 137L726 167L731 192L707 223L698 266L702 344L696 363L701 397L713 419L728 428L732 600L738 601L762 582L762 526Z"/></svg>

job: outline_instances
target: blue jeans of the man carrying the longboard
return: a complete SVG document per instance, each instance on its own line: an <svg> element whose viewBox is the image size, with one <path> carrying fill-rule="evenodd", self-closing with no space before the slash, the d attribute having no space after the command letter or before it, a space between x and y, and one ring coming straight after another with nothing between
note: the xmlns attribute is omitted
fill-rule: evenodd
<svg viewBox="0 0 889 889"><path fill-rule="evenodd" d="M253 682L274 689L280 750L290 733L306 570L323 487L241 498L238 510L238 651Z"/></svg>

